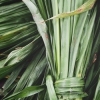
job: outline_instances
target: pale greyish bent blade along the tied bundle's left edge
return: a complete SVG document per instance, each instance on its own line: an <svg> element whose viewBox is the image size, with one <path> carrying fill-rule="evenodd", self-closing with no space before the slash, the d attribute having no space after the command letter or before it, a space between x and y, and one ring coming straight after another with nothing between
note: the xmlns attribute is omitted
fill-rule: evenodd
<svg viewBox="0 0 100 100"><path fill-rule="evenodd" d="M54 68L53 68L51 44L49 41L49 35L47 32L46 23L43 23L44 19L42 18L36 4L34 4L35 1L31 2L30 0L23 0L23 2L27 5L29 10L31 11L33 19L34 19L35 23L37 24L38 31L39 31L40 35L42 36L45 47L46 47L46 54L47 54L47 59L50 62L49 65L50 65L51 73L55 76L55 72L54 72Z"/></svg>

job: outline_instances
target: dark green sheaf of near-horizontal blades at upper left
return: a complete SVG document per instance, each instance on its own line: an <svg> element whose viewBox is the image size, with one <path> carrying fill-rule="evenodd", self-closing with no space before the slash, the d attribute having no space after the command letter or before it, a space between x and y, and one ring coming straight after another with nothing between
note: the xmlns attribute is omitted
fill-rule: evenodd
<svg viewBox="0 0 100 100"><path fill-rule="evenodd" d="M0 7L0 58L39 36L31 21L31 14L23 2Z"/></svg>

